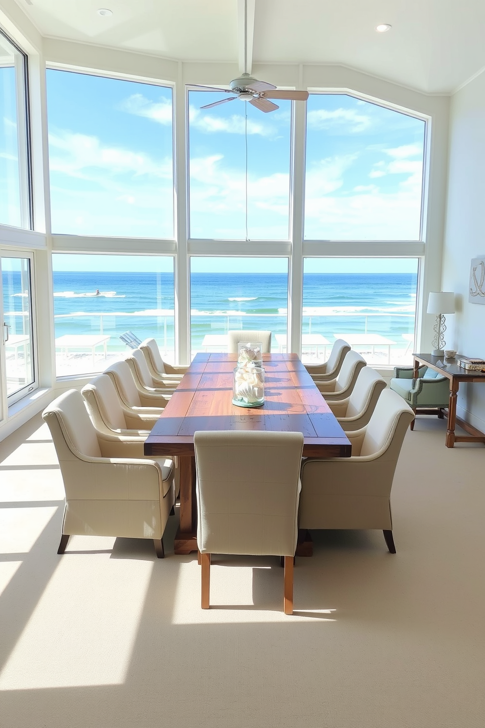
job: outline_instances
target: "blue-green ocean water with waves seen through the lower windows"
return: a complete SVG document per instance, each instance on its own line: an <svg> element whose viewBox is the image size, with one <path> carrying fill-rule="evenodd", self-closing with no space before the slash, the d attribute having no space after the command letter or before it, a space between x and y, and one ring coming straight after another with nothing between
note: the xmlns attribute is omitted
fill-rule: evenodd
<svg viewBox="0 0 485 728"><path fill-rule="evenodd" d="M415 274L305 274L303 333L380 333L403 346L414 331ZM17 288L16 290L19 290ZM97 291L99 293L97 294ZM20 296L4 301L20 311ZM286 333L286 274L198 273L191 276L192 349L207 333L229 328ZM55 272L55 336L111 335L108 349L124 349L119 336L130 330L174 348L174 290L170 273ZM20 317L16 317L20 323Z"/></svg>

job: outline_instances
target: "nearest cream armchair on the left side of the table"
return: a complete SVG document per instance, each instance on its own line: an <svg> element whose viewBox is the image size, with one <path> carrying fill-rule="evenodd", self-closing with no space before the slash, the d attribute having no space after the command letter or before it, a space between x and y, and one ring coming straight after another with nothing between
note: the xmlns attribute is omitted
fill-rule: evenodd
<svg viewBox="0 0 485 728"><path fill-rule="evenodd" d="M172 460L121 458L100 437L89 419L81 392L70 389L42 413L54 440L65 489L62 537L64 553L72 535L162 541L174 505Z"/></svg>

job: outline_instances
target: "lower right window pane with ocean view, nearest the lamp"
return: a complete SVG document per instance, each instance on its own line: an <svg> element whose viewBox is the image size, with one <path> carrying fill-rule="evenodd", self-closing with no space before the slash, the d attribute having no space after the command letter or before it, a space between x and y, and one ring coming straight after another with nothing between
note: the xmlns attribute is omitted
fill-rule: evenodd
<svg viewBox="0 0 485 728"><path fill-rule="evenodd" d="M305 258L302 359L345 339L371 366L412 364L417 272L416 258Z"/></svg>

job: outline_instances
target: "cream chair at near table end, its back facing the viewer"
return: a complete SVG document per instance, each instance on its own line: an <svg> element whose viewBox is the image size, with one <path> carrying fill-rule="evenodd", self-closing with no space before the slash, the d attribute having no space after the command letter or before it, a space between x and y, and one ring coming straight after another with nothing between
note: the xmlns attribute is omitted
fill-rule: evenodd
<svg viewBox="0 0 485 728"><path fill-rule="evenodd" d="M196 432L202 609L212 553L284 556L284 613L293 612L301 432Z"/></svg>

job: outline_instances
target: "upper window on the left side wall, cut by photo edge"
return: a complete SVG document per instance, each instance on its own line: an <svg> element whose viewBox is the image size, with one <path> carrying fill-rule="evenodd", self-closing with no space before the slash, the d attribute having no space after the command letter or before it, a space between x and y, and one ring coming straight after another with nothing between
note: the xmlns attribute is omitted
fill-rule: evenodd
<svg viewBox="0 0 485 728"><path fill-rule="evenodd" d="M31 228L27 56L0 30L0 224Z"/></svg>

